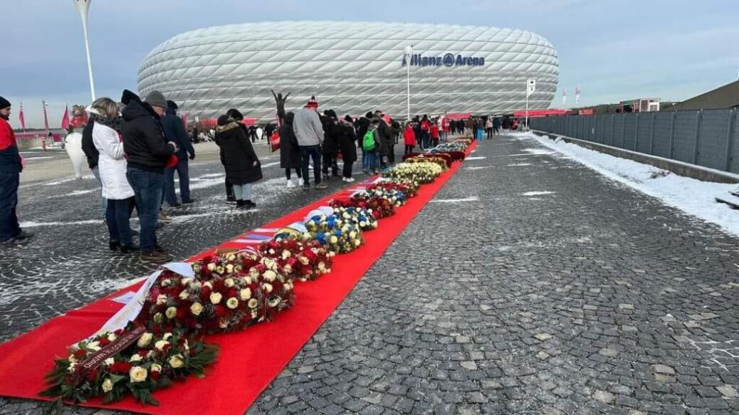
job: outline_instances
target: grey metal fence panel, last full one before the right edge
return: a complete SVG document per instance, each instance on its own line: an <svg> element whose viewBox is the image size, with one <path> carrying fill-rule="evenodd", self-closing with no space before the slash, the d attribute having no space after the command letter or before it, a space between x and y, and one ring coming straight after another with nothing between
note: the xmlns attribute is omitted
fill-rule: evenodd
<svg viewBox="0 0 739 415"><path fill-rule="evenodd" d="M703 112L701 140L698 142L698 164L723 170L726 168L726 148L729 141L728 109L712 109Z"/></svg>

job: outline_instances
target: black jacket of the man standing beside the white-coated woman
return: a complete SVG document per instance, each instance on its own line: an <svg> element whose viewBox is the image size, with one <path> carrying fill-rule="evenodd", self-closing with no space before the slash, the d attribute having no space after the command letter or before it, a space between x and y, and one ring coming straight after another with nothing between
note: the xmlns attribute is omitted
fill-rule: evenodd
<svg viewBox="0 0 739 415"><path fill-rule="evenodd" d="M164 174L174 148L167 144L162 123L154 109L137 99L129 101L123 109L121 129L128 166Z"/></svg>

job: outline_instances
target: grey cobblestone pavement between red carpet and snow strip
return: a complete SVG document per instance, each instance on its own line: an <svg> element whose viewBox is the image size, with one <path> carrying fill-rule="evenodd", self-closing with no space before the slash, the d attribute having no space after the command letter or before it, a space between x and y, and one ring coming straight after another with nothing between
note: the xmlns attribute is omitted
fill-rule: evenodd
<svg viewBox="0 0 739 415"><path fill-rule="evenodd" d="M485 141L248 415L739 414L738 246L533 140Z"/></svg>

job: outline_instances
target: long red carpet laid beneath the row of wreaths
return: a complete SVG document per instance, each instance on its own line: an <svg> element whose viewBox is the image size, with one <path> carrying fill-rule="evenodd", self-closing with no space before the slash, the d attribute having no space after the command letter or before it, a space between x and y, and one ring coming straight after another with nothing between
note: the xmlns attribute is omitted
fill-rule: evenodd
<svg viewBox="0 0 739 415"><path fill-rule="evenodd" d="M468 151L475 145L476 142ZM154 397L160 401L158 407L140 405L130 397L113 405L94 400L85 406L143 414L193 414L194 411L201 415L243 414L460 165L455 163L435 182L421 186L418 196L399 207L394 216L381 219L377 230L364 233L366 244L363 247L353 253L336 255L330 274L316 281L296 284L295 306L279 314L272 323L257 324L243 332L209 336L207 341L217 343L221 352L204 379L188 377L185 384L176 383L155 392ZM278 228L302 221L310 210L327 205L330 199L348 196L353 192L350 189L358 186L334 193L264 227ZM218 248L245 247L243 242L236 240L242 241L253 233L237 236ZM205 251L188 261L212 252ZM45 387L44 375L52 368L54 357L66 355L66 346L97 331L120 309L121 304L110 301L111 298L137 287L121 289L1 344L0 396L43 399L37 394Z"/></svg>

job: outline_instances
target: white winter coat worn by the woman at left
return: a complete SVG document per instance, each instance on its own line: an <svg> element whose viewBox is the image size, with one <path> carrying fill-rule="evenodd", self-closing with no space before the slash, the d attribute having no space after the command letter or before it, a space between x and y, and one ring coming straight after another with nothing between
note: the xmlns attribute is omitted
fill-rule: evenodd
<svg viewBox="0 0 739 415"><path fill-rule="evenodd" d="M126 179L126 158L118 131L101 123L94 123L92 143L100 154L98 171L103 183L103 199L123 200L134 196L134 190Z"/></svg>

